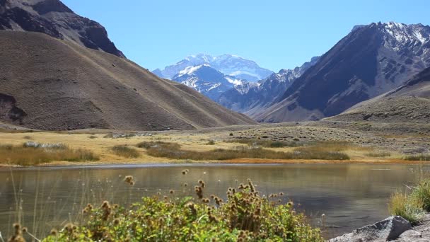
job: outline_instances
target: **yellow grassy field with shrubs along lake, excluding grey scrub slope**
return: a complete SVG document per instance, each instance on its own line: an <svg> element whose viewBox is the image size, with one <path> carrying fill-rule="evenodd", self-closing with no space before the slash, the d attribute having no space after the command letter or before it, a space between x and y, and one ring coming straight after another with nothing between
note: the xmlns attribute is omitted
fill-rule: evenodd
<svg viewBox="0 0 430 242"><path fill-rule="evenodd" d="M231 135L233 134L233 136ZM77 163L184 163L184 162L238 162L238 163L408 163L413 157L404 157L396 151L386 151L378 147L359 146L351 142L306 142L303 139L271 140L238 139L238 132L214 130L213 132L136 132L111 133L107 131L91 132L21 132L2 131L1 146L22 146L25 142L44 144L62 143L69 151L86 151L97 159L71 159L64 156L38 161L13 162L11 152L0 151L0 163L33 165L74 165ZM182 155L155 154L154 149L147 149L138 144L165 142L180 149ZM179 148L180 147L180 148ZM171 148L171 147L170 147ZM252 148L252 149L251 149ZM17 148L16 153L21 153ZM158 150L160 151L160 150ZM163 149L164 153L168 149ZM340 154L340 155L339 155ZM417 156L422 159L422 156ZM424 157L425 158L425 157Z"/></svg>

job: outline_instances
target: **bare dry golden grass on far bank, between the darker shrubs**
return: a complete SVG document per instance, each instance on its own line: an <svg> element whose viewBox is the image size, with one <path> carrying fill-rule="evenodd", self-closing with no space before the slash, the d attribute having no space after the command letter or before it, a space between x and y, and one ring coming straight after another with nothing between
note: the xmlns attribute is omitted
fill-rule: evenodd
<svg viewBox="0 0 430 242"><path fill-rule="evenodd" d="M236 143L236 142L223 142L229 137L228 131L215 131L205 132L202 134L190 134L187 132L155 132L152 136L129 136L127 138L113 139L107 134L110 131L100 130L96 132L98 138L93 139L95 132L93 130L81 130L79 132L33 132L31 134L23 134L22 132L9 132L1 133L0 144L13 144L14 146L21 146L24 142L29 140L25 136L30 136L33 142L42 143L63 143L70 149L86 149L93 152L93 154L100 157L100 161L86 161L87 164L100 164L100 163L177 163L177 162L211 162L218 161L216 159L203 159L203 160L189 160L189 159L169 159L167 157L156 157L151 156L146 152L145 149L139 149L140 156L137 158L127 158L119 156L112 152L112 146L136 146L141 142L153 142L151 144L156 145L160 142L173 143L175 146L180 145L181 151L213 151L215 149L234 150L238 149L238 146L248 147L248 144ZM105 138L106 137L106 138ZM208 145L208 141L214 140L214 144ZM246 142L245 142L246 143ZM290 147L283 146L278 147L278 144L268 145L265 150L270 151L281 151L284 153L291 153L294 151L306 151L306 152L342 152L350 157L350 161L341 162L365 162L365 163L409 163L414 161L404 161L402 156L392 153L390 157L371 157L367 154L373 149L364 148L361 146L354 146L353 144L345 144L342 142L314 142L312 144L303 144L303 146ZM274 147L273 147L274 146ZM209 154L209 153L208 153ZM236 156L237 157L237 156ZM308 156L308 159L314 159L313 156ZM256 162L256 159L231 159L226 161L240 160L240 162ZM295 163L313 163L313 160L284 160L284 159L257 159L258 162L264 163L284 163L284 162L295 162ZM330 162L325 160L324 162ZM74 165L80 164L81 162L71 161L51 161L50 165ZM5 165L5 161L0 161L0 166Z"/></svg>

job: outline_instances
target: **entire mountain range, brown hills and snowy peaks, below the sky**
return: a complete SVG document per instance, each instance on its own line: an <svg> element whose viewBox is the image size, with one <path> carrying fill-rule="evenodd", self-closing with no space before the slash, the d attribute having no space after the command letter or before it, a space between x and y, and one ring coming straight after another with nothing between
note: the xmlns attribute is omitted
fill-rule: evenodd
<svg viewBox="0 0 430 242"><path fill-rule="evenodd" d="M192 55L151 73L59 0L0 0L0 40L0 121L35 129L430 117L422 24L356 25L322 56L277 73L232 54Z"/></svg>

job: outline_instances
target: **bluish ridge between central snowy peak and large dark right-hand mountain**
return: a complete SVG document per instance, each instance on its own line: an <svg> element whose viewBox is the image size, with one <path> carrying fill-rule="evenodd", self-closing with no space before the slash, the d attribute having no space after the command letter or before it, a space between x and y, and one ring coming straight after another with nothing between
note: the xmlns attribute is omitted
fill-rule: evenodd
<svg viewBox="0 0 430 242"><path fill-rule="evenodd" d="M242 89L231 88L221 94L218 103L231 110L252 116L278 100L291 83L318 62L318 59L319 57L313 57L310 62L294 69L281 69L267 79L258 81L257 85L248 84L248 88Z"/></svg>

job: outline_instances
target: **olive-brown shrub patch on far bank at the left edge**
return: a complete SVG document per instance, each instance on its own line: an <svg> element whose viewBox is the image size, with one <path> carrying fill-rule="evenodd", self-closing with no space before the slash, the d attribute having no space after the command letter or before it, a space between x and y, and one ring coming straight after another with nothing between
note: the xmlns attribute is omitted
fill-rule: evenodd
<svg viewBox="0 0 430 242"><path fill-rule="evenodd" d="M98 161L87 149L71 149L64 144L25 142L21 146L1 145L0 162L19 166L34 166L51 161Z"/></svg>

